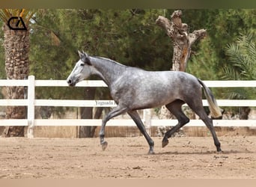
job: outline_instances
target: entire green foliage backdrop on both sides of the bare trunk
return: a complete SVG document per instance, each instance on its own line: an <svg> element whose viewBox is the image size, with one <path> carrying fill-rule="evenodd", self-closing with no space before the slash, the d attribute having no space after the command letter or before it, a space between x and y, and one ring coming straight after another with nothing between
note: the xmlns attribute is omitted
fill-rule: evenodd
<svg viewBox="0 0 256 187"><path fill-rule="evenodd" d="M159 15L170 19L173 11L37 10L33 16L34 22L30 25L30 74L36 76L36 79L66 79L79 59L77 50L146 70L170 70L173 43L155 21ZM255 34L256 10L182 11L183 22L189 25L190 32L207 29L207 37L192 46L187 72L203 80L224 79L224 75L234 73L230 68L234 67L230 57L235 58L238 52L229 55L226 47L228 43L234 43L240 33ZM0 79L5 79L3 40L0 30ZM228 79L255 79L255 61L249 60L255 56L255 46L251 46L250 51L248 57L243 52L239 58L240 65L235 65L236 76ZM237 73L242 68L243 72ZM216 92L218 96L223 96L222 90ZM45 99L81 99L85 90L76 88L74 92L72 88L37 88L36 93L37 97ZM103 93L104 98L100 93ZM97 97L109 99L108 90L99 88Z"/></svg>

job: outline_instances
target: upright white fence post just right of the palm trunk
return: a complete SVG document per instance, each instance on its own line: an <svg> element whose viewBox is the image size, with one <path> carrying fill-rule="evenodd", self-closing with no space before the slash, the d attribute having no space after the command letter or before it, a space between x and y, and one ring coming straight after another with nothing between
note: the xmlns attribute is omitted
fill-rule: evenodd
<svg viewBox="0 0 256 187"><path fill-rule="evenodd" d="M28 76L28 138L34 138L34 76Z"/></svg>

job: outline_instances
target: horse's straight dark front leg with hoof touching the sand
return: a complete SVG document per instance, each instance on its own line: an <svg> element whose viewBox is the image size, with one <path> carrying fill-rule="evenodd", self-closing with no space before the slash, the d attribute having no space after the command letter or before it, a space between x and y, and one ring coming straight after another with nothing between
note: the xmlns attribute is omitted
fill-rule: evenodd
<svg viewBox="0 0 256 187"><path fill-rule="evenodd" d="M147 139L147 143L150 146L150 150L149 150L149 154L154 154L153 152L153 140L152 138L150 138L150 135L147 134L147 131L144 127L143 122L141 121L141 117L139 117L138 112L137 111L127 111L127 113L129 114L130 117L132 117L132 120L134 120L134 122L136 123L136 125L138 126L138 129L141 131L142 135L144 135L144 137Z"/></svg>

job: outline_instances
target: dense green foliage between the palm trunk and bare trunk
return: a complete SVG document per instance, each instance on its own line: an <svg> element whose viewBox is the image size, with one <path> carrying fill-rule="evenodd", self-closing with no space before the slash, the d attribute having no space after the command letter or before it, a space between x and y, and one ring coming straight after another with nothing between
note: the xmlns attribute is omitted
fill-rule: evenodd
<svg viewBox="0 0 256 187"><path fill-rule="evenodd" d="M40 10L31 25L30 74L37 79L67 79L79 59L77 50L147 70L169 70L172 44L155 24L161 13L162 10ZM108 90L97 88L97 95L102 92L104 99L110 99ZM76 92L71 88L37 88L37 97L46 99L82 99L84 95L83 88Z"/></svg>

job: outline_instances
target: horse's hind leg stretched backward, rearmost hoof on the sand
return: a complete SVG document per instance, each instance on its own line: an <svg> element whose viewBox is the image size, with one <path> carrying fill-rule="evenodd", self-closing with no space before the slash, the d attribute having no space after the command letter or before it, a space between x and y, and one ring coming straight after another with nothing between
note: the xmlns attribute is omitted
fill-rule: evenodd
<svg viewBox="0 0 256 187"><path fill-rule="evenodd" d="M216 132L215 132L215 129L214 129L214 126L213 126L213 120L210 119L208 116L207 116L207 113L204 111L204 107L202 105L202 102L201 100L198 102L194 99L193 101L191 102L187 102L187 104L189 105L189 107L195 111L196 114L198 114L198 116L201 118L201 120L204 121L205 125L207 126L207 128L210 130L210 133L213 135L213 141L214 141L214 144L216 146L216 149L218 152L221 152L222 149L221 149L221 144L219 143L219 140L217 138L217 135L216 135Z"/></svg>

